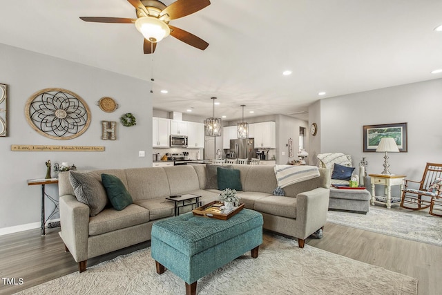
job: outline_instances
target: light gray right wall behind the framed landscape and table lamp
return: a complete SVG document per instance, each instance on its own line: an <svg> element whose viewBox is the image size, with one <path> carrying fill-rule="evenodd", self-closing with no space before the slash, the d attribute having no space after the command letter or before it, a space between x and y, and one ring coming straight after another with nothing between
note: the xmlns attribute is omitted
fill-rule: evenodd
<svg viewBox="0 0 442 295"><path fill-rule="evenodd" d="M381 173L383 153L363 153L363 126L407 122L408 152L388 154L390 171L421 180L426 162L442 162L441 97L442 79L434 79L321 99L309 109L320 111L314 153L348 153L356 170L365 157L367 173Z"/></svg>

